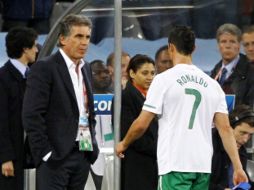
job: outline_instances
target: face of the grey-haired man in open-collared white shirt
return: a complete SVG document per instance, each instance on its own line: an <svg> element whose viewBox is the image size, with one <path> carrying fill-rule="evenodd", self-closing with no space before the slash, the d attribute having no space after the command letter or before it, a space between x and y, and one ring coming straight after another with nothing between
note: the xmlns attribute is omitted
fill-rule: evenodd
<svg viewBox="0 0 254 190"><path fill-rule="evenodd" d="M73 26L68 36L60 36L63 51L74 62L82 59L90 43L91 28L88 26Z"/></svg>

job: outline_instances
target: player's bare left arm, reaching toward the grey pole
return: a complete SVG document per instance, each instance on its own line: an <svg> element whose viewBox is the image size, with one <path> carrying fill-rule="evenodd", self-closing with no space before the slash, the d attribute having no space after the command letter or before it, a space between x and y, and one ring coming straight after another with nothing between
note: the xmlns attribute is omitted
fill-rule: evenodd
<svg viewBox="0 0 254 190"><path fill-rule="evenodd" d="M124 139L118 143L116 147L116 154L118 157L124 157L123 152L133 141L135 141L145 133L154 116L154 113L142 110L138 118L133 121Z"/></svg>

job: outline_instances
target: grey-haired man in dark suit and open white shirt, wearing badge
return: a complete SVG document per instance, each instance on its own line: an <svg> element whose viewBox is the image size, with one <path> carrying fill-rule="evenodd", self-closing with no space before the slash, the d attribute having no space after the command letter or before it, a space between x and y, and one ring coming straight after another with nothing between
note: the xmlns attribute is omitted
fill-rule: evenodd
<svg viewBox="0 0 254 190"><path fill-rule="evenodd" d="M83 190L97 159L91 70L83 61L91 28L83 15L66 16L60 23L60 49L31 68L23 123L37 190Z"/></svg>

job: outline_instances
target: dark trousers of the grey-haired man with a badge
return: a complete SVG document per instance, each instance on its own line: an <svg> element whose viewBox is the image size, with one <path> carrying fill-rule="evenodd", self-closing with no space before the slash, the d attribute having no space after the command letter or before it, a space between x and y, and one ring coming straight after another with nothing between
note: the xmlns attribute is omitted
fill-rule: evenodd
<svg viewBox="0 0 254 190"><path fill-rule="evenodd" d="M36 170L36 190L84 190L90 163L75 148L64 160L43 162Z"/></svg>

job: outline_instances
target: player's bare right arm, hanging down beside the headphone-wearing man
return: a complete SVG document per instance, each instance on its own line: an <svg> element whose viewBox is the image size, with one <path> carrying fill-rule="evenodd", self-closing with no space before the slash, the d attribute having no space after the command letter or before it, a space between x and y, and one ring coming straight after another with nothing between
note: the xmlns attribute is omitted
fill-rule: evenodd
<svg viewBox="0 0 254 190"><path fill-rule="evenodd" d="M233 135L233 129L229 124L228 115L224 113L216 113L214 117L214 123L219 131L223 146L233 164L234 184L236 185L240 182L247 182L248 178L242 168L242 164L237 151L236 140Z"/></svg>

